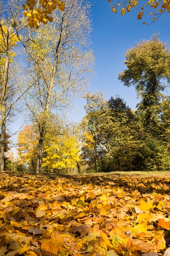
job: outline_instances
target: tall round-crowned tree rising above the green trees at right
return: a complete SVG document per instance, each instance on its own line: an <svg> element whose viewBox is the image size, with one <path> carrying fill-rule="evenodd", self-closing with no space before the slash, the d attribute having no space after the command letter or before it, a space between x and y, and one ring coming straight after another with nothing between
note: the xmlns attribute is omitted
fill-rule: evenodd
<svg viewBox="0 0 170 256"><path fill-rule="evenodd" d="M135 85L141 97L138 109L145 111L147 127L159 112L161 91L166 87L163 80L170 83L170 49L154 35L130 48L125 57L127 70L119 73L119 80L126 86Z"/></svg>

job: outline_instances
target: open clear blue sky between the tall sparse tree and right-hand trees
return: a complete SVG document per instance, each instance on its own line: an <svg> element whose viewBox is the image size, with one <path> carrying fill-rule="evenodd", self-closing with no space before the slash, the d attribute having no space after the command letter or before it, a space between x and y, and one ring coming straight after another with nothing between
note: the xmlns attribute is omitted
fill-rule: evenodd
<svg viewBox="0 0 170 256"><path fill-rule="evenodd" d="M102 91L105 99L119 94L131 108L135 108L138 102L135 88L125 87L117 79L118 73L126 68L125 51L135 43L139 43L141 39L149 40L152 34L157 33L160 40L167 42L170 47L170 14L163 14L150 25L142 25L144 21L152 21L152 16L148 16L149 7L146 7L144 19L137 20L137 12L134 10L121 16L120 13L115 14L111 11L107 0L90 0L90 2L93 26L91 47L96 58L97 73L91 81L91 92ZM79 112L71 115L72 121L81 121L85 115L83 110L85 103L84 99L77 100Z"/></svg>

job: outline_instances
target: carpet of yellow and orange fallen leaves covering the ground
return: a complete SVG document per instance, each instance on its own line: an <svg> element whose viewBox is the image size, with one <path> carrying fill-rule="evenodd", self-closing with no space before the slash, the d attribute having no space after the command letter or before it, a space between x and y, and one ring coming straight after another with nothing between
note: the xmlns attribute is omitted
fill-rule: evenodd
<svg viewBox="0 0 170 256"><path fill-rule="evenodd" d="M0 256L169 256L170 172L0 173Z"/></svg>

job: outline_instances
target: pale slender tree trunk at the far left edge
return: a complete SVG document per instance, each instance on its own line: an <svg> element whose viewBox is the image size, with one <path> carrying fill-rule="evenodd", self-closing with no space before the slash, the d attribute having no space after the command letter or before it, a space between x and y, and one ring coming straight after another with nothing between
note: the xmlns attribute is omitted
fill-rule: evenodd
<svg viewBox="0 0 170 256"><path fill-rule="evenodd" d="M6 133L6 91L8 82L9 69L9 53L6 53L4 72L2 78L2 93L1 93L1 139L0 139L0 170L4 170L4 152L5 152L5 133Z"/></svg>

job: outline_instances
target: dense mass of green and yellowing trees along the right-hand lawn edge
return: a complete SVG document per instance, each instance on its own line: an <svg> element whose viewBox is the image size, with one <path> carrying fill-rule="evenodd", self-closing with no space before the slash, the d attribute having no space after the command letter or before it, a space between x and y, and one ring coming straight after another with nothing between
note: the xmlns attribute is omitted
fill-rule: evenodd
<svg viewBox="0 0 170 256"><path fill-rule="evenodd" d="M170 168L170 144L166 136L170 129L169 99L160 103L159 112L152 115L148 128L144 111L132 111L119 96L109 101L103 97L101 100L101 94L86 97L81 158L90 169L110 172Z"/></svg>

